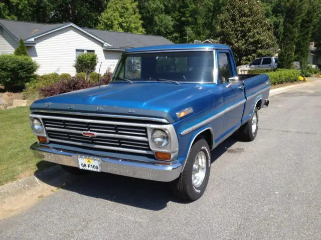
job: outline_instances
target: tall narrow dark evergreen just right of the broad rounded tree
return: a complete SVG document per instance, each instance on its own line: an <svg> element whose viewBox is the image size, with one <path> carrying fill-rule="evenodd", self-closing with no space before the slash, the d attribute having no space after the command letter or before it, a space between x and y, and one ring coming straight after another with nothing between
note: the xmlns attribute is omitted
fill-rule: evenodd
<svg viewBox="0 0 321 240"><path fill-rule="evenodd" d="M295 43L301 20L301 5L299 0L288 0L285 3L284 30L280 42L280 53L278 66L291 68L294 60Z"/></svg>

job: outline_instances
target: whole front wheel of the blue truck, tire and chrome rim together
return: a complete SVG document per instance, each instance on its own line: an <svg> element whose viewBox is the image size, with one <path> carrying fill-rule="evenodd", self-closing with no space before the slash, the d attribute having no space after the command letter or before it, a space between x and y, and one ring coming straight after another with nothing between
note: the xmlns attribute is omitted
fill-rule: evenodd
<svg viewBox="0 0 321 240"><path fill-rule="evenodd" d="M211 152L205 139L193 144L180 177L172 182L179 198L190 201L200 198L207 186L211 170Z"/></svg>

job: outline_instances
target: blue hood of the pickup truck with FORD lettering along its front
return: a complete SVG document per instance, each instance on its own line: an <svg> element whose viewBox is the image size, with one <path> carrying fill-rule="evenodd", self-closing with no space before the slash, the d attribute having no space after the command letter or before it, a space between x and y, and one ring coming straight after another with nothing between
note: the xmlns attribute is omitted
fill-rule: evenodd
<svg viewBox="0 0 321 240"><path fill-rule="evenodd" d="M201 111L213 104L210 88L202 84L111 83L35 101L31 110L64 110L163 117L169 122L187 107Z"/></svg>

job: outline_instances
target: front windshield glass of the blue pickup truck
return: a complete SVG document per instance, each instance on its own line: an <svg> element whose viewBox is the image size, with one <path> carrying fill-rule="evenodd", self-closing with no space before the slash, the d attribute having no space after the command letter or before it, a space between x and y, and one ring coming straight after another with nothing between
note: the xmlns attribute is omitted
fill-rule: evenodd
<svg viewBox="0 0 321 240"><path fill-rule="evenodd" d="M121 56L113 81L213 82L213 51L137 53ZM170 81L168 81L170 82Z"/></svg>

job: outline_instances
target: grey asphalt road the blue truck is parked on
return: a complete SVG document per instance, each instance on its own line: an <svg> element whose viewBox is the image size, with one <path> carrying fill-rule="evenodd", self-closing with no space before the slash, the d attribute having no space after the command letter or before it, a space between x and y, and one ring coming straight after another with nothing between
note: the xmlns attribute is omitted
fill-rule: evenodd
<svg viewBox="0 0 321 240"><path fill-rule="evenodd" d="M254 142L213 151L204 196L90 174L0 221L1 239L321 239L321 83L270 97Z"/></svg>

